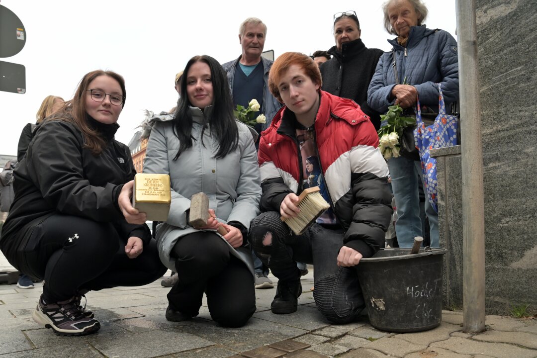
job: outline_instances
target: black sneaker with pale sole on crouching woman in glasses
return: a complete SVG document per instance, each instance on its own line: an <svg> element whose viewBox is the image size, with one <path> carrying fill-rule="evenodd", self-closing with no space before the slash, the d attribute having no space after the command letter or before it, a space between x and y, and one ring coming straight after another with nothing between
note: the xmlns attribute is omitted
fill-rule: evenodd
<svg viewBox="0 0 537 358"><path fill-rule="evenodd" d="M57 335L84 335L95 333L100 328L98 320L84 317L75 297L49 304L43 303L42 297L39 297L32 318L46 328L52 328Z"/></svg>

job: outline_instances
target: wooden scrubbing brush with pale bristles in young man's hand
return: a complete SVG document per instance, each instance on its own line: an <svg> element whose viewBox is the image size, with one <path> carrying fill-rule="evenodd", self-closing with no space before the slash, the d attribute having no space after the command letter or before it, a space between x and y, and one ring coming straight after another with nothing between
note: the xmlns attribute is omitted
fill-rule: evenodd
<svg viewBox="0 0 537 358"><path fill-rule="evenodd" d="M326 209L330 208L330 204L324 200L318 186L304 189L300 193L296 206L300 209L299 215L288 218L280 217L281 221L286 223L296 235L301 235Z"/></svg>

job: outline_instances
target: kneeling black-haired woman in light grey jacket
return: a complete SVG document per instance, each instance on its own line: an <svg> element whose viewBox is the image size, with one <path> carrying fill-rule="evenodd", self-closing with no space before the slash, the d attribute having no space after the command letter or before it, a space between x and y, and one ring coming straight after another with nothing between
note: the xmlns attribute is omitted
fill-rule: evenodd
<svg viewBox="0 0 537 358"><path fill-rule="evenodd" d="M211 317L239 327L256 310L253 264L246 233L259 214L261 196L256 149L248 127L235 120L221 65L194 56L180 80L173 119L156 121L143 171L170 174L168 220L157 226L158 251L179 281L168 294L166 319L197 316L204 291ZM209 198L209 222L188 225L193 194ZM222 225L228 233L214 230Z"/></svg>

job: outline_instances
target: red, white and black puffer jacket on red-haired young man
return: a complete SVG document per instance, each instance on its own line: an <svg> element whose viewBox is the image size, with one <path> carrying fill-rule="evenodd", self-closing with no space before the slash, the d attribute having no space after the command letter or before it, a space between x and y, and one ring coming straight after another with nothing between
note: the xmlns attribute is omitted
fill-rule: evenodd
<svg viewBox="0 0 537 358"><path fill-rule="evenodd" d="M378 150L379 137L369 117L350 99L320 91L315 141L344 245L371 257L384 246L392 209L388 166ZM261 134L262 211L280 211L291 192L302 192L299 143L294 116L282 107Z"/></svg>

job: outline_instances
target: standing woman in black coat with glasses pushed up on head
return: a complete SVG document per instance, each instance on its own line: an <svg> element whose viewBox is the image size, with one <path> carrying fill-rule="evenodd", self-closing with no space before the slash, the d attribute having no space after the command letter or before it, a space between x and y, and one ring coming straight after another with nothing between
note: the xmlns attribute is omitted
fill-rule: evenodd
<svg viewBox="0 0 537 358"><path fill-rule="evenodd" d="M367 87L383 51L365 47L354 11L338 12L333 20L336 46L328 50L332 59L319 67L323 78L322 90L355 101L369 116L375 129L379 129L380 113L367 105Z"/></svg>

